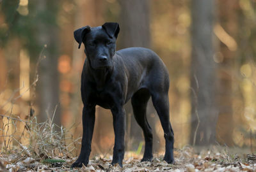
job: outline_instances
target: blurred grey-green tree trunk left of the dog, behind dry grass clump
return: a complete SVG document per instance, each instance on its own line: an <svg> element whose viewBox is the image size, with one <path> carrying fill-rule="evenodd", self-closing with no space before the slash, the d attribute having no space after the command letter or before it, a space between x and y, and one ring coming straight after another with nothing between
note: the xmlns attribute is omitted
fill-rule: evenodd
<svg viewBox="0 0 256 172"><path fill-rule="evenodd" d="M37 96L40 102L39 120L44 122L48 115L54 115L54 124L61 125L59 74L58 74L58 27L56 25L57 1L37 2L38 16L38 42L44 48L42 61L39 67L39 80ZM44 15L44 16L43 16ZM48 17L48 18L46 18ZM47 115L48 114L48 115Z"/></svg>

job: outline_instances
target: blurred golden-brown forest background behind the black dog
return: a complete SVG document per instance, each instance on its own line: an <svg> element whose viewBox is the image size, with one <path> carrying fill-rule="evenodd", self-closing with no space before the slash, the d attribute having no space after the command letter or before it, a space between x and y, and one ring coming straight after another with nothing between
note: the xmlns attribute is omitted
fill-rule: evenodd
<svg viewBox="0 0 256 172"><path fill-rule="evenodd" d="M82 136L85 55L73 32L118 22L117 50L151 48L168 68L175 148L256 147L255 0L0 0L0 6L0 143L24 128L4 129L6 116L29 120L29 114L39 122L54 114L54 123L71 128L72 138ZM92 152L111 153L111 113L99 106L96 113ZM126 149L138 151L144 139L130 103L126 113ZM163 130L152 103L148 120L154 151L162 152Z"/></svg>

